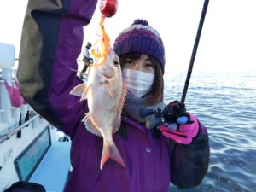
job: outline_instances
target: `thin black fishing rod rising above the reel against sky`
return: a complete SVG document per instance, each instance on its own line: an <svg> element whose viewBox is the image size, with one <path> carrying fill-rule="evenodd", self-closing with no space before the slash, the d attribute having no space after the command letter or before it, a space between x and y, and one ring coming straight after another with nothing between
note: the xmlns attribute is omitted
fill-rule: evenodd
<svg viewBox="0 0 256 192"><path fill-rule="evenodd" d="M196 55L197 47L198 47L199 40L200 40L200 37L201 37L201 30L202 30L204 20L205 20L206 14L207 14L208 3L209 3L209 0L205 0L204 5L203 5L203 9L201 11L201 19L200 19L200 22L199 22L199 26L197 28L195 43L194 43L192 55L191 55L190 62L189 62L189 69L188 69L188 73L187 73L187 78L186 78L184 88L183 88L183 95L182 95L182 99L181 99L182 103L185 102L185 98L186 98L187 91L188 91L188 88L189 88L189 80L190 80L190 77L191 77L191 74L192 74L193 65L194 65L194 61L195 61L195 55Z"/></svg>

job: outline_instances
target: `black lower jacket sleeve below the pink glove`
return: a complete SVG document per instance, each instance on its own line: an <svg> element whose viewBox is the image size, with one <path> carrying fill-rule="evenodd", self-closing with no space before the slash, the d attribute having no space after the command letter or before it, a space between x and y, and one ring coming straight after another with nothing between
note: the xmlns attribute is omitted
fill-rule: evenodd
<svg viewBox="0 0 256 192"><path fill-rule="evenodd" d="M208 169L210 148L207 129L198 123L199 133L189 145L170 141L171 182L180 189L199 185Z"/></svg>

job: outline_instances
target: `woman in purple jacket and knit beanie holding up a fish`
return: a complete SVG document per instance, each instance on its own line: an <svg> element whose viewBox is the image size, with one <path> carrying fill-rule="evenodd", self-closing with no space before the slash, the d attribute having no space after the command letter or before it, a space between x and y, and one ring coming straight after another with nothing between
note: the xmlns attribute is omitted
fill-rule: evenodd
<svg viewBox="0 0 256 192"><path fill-rule="evenodd" d="M65 191L167 192L170 182L179 188L198 185L207 172L209 158L205 127L188 114L194 123L180 127L189 126L193 134L188 136L191 141L185 142L165 125L160 125L162 134L156 127L147 129L145 123L149 118L140 115L141 108L165 107L164 46L159 34L143 20L135 21L121 32L113 46L120 56L129 90L121 127L113 134L125 167L108 160L100 170L102 137L84 128L81 120L88 112L87 103L69 95L81 80L67 69L77 68L82 26L90 22L95 8L94 0L70 0L62 4L29 1L22 32L20 91L32 108L72 139L73 171ZM138 83L137 89L132 82Z"/></svg>

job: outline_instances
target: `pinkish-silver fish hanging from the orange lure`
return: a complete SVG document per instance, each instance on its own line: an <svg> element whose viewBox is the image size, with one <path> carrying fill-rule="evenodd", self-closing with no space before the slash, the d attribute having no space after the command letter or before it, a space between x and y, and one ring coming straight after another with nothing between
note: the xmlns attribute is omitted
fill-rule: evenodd
<svg viewBox="0 0 256 192"><path fill-rule="evenodd" d="M75 86L70 92L74 96L81 96L80 101L87 99L89 112L85 113L82 121L88 131L103 137L101 170L108 159L125 167L113 142L113 133L119 130L126 93L119 56L113 49L108 51L103 65L94 63L90 67L87 82Z"/></svg>

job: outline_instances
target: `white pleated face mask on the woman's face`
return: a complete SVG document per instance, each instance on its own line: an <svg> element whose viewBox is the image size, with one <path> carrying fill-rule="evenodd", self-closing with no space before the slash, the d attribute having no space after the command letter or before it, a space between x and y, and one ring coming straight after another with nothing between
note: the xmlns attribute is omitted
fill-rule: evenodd
<svg viewBox="0 0 256 192"><path fill-rule="evenodd" d="M154 82L154 74L125 68L122 73L127 89L134 96L142 97L151 90Z"/></svg>

